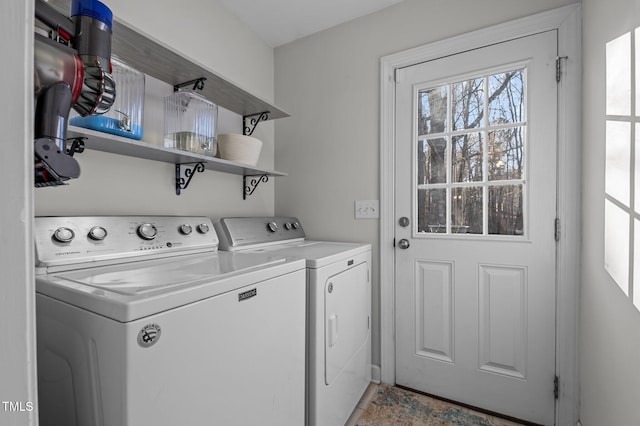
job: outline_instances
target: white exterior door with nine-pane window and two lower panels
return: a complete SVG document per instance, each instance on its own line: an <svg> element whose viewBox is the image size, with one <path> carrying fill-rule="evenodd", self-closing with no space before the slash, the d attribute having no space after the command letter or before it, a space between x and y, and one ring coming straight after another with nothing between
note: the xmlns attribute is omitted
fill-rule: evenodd
<svg viewBox="0 0 640 426"><path fill-rule="evenodd" d="M398 70L396 383L554 423L557 33Z"/></svg>

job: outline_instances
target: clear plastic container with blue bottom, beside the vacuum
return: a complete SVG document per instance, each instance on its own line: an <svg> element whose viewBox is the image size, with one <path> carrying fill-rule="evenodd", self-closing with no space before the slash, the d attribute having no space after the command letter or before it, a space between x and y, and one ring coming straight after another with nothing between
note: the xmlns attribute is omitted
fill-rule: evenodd
<svg viewBox="0 0 640 426"><path fill-rule="evenodd" d="M132 139L142 139L144 73L131 68L115 56L111 58L116 99L109 112L79 116L72 110L69 124Z"/></svg>

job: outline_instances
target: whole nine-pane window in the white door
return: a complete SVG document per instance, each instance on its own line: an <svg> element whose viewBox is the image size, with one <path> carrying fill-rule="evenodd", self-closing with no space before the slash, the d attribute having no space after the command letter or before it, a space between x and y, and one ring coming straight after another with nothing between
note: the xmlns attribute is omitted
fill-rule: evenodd
<svg viewBox="0 0 640 426"><path fill-rule="evenodd" d="M417 89L418 232L525 234L526 69Z"/></svg>

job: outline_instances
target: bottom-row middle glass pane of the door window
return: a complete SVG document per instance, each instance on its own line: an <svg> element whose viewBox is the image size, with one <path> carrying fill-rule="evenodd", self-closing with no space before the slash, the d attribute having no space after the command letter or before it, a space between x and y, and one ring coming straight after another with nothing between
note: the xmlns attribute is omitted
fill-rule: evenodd
<svg viewBox="0 0 640 426"><path fill-rule="evenodd" d="M451 233L482 234L482 187L453 188Z"/></svg>

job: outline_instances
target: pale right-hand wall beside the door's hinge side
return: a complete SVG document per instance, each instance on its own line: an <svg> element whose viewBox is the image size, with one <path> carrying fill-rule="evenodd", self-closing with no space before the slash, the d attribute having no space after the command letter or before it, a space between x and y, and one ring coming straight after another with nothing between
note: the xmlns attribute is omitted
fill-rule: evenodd
<svg viewBox="0 0 640 426"><path fill-rule="evenodd" d="M605 58L608 43L640 26L640 8L634 0L583 0L582 3L584 150L580 412L584 426L639 424L640 311L623 289L628 288L624 281L629 279L631 271L640 282L640 268L634 268L630 257L634 234L629 230L628 215L614 219L611 210L605 214L605 192L626 188L624 191L629 195L634 184L631 181L633 173L628 171L634 163L631 138L607 136L605 131L605 76L606 72L621 72L614 87L624 90L621 77L630 75L631 70L629 65L623 64L607 70ZM629 49L626 50L630 54ZM636 58L640 56L636 54ZM640 87L640 80L635 84ZM631 98L631 92L624 91L624 96ZM611 149L616 144L622 147L617 155ZM610 159L617 157L618 161L605 160L607 154ZM639 154L636 148L636 155ZM613 181L616 169L622 173L618 174L622 178ZM636 166L636 176L638 173L640 167ZM611 186L606 185L607 179ZM636 190L640 189L638 183L635 185ZM640 198L636 198L635 203L636 211L640 210ZM640 229L636 228L636 235L640 235L638 231ZM612 241L616 235L620 239ZM608 245L607 241L614 244ZM635 243L638 243L637 237ZM636 251L636 259L639 256L640 252ZM640 287L636 289L637 296L640 296Z"/></svg>

